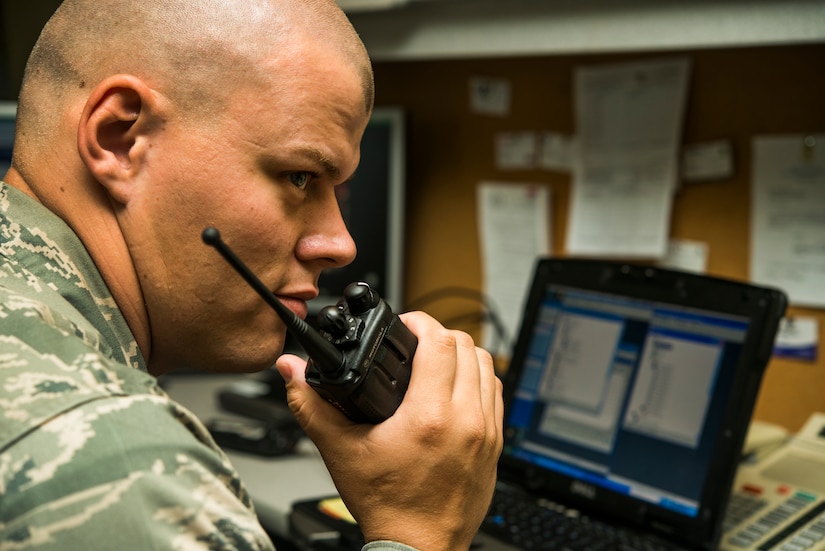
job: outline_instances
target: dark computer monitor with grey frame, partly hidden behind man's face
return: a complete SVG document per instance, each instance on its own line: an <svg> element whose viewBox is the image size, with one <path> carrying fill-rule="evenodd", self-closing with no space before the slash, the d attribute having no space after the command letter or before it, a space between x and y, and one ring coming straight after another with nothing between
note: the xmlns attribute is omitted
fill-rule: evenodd
<svg viewBox="0 0 825 551"><path fill-rule="evenodd" d="M361 163L355 176L337 189L358 254L352 264L321 275L321 294L310 304L311 317L337 302L344 287L354 281L369 283L394 311L400 311L404 186L404 113L400 108L377 107L361 141Z"/></svg>

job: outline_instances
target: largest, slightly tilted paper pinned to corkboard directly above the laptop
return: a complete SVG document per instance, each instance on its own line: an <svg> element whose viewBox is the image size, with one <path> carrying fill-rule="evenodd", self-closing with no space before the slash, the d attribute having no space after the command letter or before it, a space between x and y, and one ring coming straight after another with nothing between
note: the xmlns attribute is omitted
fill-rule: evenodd
<svg viewBox="0 0 825 551"><path fill-rule="evenodd" d="M665 254L689 65L676 58L577 71L568 253Z"/></svg>

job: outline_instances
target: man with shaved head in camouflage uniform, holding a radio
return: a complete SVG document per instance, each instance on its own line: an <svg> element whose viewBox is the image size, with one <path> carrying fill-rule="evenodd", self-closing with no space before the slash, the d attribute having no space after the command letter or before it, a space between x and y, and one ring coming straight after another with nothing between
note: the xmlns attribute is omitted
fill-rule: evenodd
<svg viewBox="0 0 825 551"><path fill-rule="evenodd" d="M334 190L372 102L331 0L63 2L0 184L0 550L271 548L155 376L276 358L365 549L469 546L502 445L489 355L404 315L419 339L404 402L354 424L278 357L283 324L200 243L219 227L305 315L321 270L355 254Z"/></svg>

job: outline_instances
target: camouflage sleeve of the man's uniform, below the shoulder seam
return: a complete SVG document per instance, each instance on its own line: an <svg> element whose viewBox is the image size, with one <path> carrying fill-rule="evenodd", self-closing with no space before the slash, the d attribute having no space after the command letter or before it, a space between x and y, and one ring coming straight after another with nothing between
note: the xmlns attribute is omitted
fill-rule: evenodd
<svg viewBox="0 0 825 551"><path fill-rule="evenodd" d="M168 398L91 400L0 456L4 550L271 550L237 473Z"/></svg>

